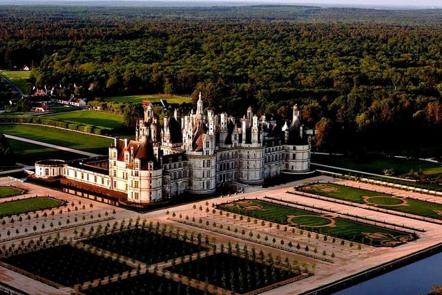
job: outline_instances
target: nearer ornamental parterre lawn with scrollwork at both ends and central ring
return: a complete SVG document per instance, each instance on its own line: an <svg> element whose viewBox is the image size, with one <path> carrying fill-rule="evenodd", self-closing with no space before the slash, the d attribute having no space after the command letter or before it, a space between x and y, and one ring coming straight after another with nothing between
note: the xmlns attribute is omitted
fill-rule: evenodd
<svg viewBox="0 0 442 295"><path fill-rule="evenodd" d="M322 232L336 238L362 242L366 245L392 247L416 238L413 234L405 231L386 229L327 214L320 215L312 211L260 200L240 200L218 205L218 208L281 225Z"/></svg>

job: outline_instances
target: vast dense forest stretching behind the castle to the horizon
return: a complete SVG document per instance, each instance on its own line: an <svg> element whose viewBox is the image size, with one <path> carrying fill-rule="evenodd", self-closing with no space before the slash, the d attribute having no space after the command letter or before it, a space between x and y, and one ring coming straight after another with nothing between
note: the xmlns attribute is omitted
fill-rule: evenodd
<svg viewBox="0 0 442 295"><path fill-rule="evenodd" d="M415 156L442 141L441 12L0 6L0 68L89 99L201 91L280 121L296 103L318 151Z"/></svg>

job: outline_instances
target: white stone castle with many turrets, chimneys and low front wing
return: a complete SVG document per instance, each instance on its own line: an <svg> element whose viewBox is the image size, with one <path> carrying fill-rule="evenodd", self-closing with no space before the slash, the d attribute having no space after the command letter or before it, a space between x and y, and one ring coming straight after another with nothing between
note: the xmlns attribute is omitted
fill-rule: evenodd
<svg viewBox="0 0 442 295"><path fill-rule="evenodd" d="M303 130L299 116L296 105L283 126L258 117L252 108L240 119L215 115L204 110L200 93L195 112L181 117L175 110L160 124L146 102L135 140L116 138L105 168L85 160L57 162L56 169L68 180L127 193L129 202L140 204L183 193L211 194L223 185L262 184L281 173L310 170L311 133ZM48 178L47 164L36 163L37 177Z"/></svg>

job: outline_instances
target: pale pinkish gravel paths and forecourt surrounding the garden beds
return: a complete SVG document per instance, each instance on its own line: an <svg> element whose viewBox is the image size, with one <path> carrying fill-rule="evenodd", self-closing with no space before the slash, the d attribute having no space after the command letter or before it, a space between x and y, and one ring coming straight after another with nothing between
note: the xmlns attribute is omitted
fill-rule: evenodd
<svg viewBox="0 0 442 295"><path fill-rule="evenodd" d="M442 241L442 225L432 222L425 222L420 218L407 218L404 216L391 215L389 213L385 213L385 211L367 210L367 208L365 208L366 205L354 206L352 204L340 204L337 202L329 202L329 200L325 200L324 198L307 198L306 196L302 196L300 194L288 193L288 191L295 192L295 185L302 185L307 184L308 182L317 181L337 182L353 187L361 187L361 189L376 189L376 191L393 193L394 196L420 198L421 200L432 200L434 202L442 203L442 201L435 196L428 196L387 187L376 187L372 184L363 184L360 182L350 182L347 180L338 180L325 176L319 176L316 178L291 182L289 184L280 185L278 187L270 187L267 189L262 189L260 187L247 187L244 193L240 193L238 195L211 198L208 200L202 200L200 202L182 204L176 207L140 214L134 211L113 207L108 204L62 193L60 191L38 187L35 184L15 182L9 180L8 178L0 178L0 186L13 185L22 189L28 189L28 192L24 196L21 195L10 198L2 198L0 202L38 195L52 196L61 200L66 200L68 203L66 207L61 207L61 213L59 213L59 209L56 209L53 216L50 215L50 211L52 211L52 209L46 209L44 211L30 213L30 220L25 218L27 216L26 214L22 214L23 220L21 222L6 222L5 225L0 225L1 239L3 240L6 238L6 240L3 240L3 242L0 243L0 246L8 246L12 242L17 244L21 240L26 241L27 239L36 238L40 235L47 236L52 234L53 236L58 231L61 232L62 236L67 236L69 238L74 236L75 229L79 230L81 227L86 227L87 229L90 227L90 225L98 225L99 223L104 225L106 222L108 222L108 220L111 220L109 222L112 224L115 220L121 221L123 219L128 220L129 218L133 218L133 220L135 220L137 216L140 216L142 220L146 219L148 221L152 220L154 222L158 221L161 223L173 224L174 227L179 227L183 231L187 230L189 232L195 231L195 233L201 233L203 235L207 234L211 237L211 240L215 241L218 245L221 243L226 245L227 242L231 242L232 244L238 242L241 247L246 244L249 249L254 247L256 251L259 251L260 249L266 253L271 251L273 256L279 255L282 260L289 258L290 261L296 261L299 264L308 265L310 269L314 270L314 276L309 276L308 278L304 278L295 283L291 283L265 293L275 294L277 292L280 294L299 294L315 287L327 285L339 280L340 278L345 278L376 265L381 265L382 263L406 256L407 254L412 254L420 249L425 249ZM361 245L358 247L357 243L355 243L353 247L349 247L348 241L345 243L345 245L340 245L339 239L337 239L338 241L336 242L332 242L330 238L324 240L322 234L319 235L319 238L316 238L316 233L311 233L310 237L308 237L308 231L304 231L303 234L300 234L300 229L295 229L293 232L291 227L289 227L289 229L285 231L284 226L281 226L278 229L276 228L276 225L273 224L273 226L270 227L269 222L265 222L265 225L262 225L260 221L256 223L253 222L253 218L247 222L247 217L240 220L238 217L233 218L233 214L230 214L230 216L227 216L227 214L220 216L219 210L215 209L214 207L215 204L230 202L240 198L269 200L268 197L276 198L282 203L285 203L285 201L291 203L297 202L298 205L301 206L302 204L305 204L309 207L314 206L318 209L322 208L332 210L335 213L349 213L353 216L360 216L361 218L363 217L372 220L379 220L380 222L385 221L386 223L397 225L398 228L406 226L416 229L424 229L425 231L417 233L419 234L419 239L412 242L406 242L398 247L370 247L368 245ZM77 210L75 210L75 207L77 207ZM213 209L215 209L215 211L213 211ZM115 213L113 213L114 210ZM43 216L45 211L48 215L46 217ZM35 216L37 213L39 214L38 217ZM83 216L85 216L84 220ZM90 216L93 216L93 218ZM188 216L188 219L186 219L186 216ZM73 221L75 217L77 217L77 222ZM201 224L198 221L196 221L195 224L191 224L191 220L193 218L195 218L195 220L201 219ZM68 225L66 225L67 219L70 220ZM50 222L52 222L54 227L50 227ZM61 229L59 228L59 222L61 222ZM86 224L86 222L88 223ZM217 225L216 227L213 226L214 223ZM45 225L44 229L41 229L42 224ZM222 229L219 227L221 224L224 225ZM35 225L37 226L37 230L34 232L32 228ZM23 237L23 234L25 234L25 227L28 228L28 232L26 234L31 234L30 236ZM233 227L236 227L238 229L238 233L228 231L227 227L231 227L232 229ZM17 229L19 229L19 234L16 234ZM241 234L242 229L244 229L246 234ZM9 236L7 234L8 231L10 231ZM249 233L251 233L251 236L249 236ZM258 234L260 238L257 238ZM269 238L268 241L264 240L265 236ZM272 241L273 238L275 238L275 242ZM284 240L284 246L281 246L281 240ZM302 245L302 248L305 247L305 245L308 245L311 249L309 254L313 254L312 251L316 248L318 250L318 253L316 254L318 258L312 258L311 256L313 255L305 256L302 254L296 254L295 251L289 249L287 246L288 242L291 242L292 245L299 243ZM327 253L325 257L328 258L328 261L320 259L320 257L323 256L323 251ZM331 258L332 253L334 254L333 258ZM35 280L12 272L4 267L0 267L0 280L4 283L22 289L24 292L30 292L32 294L63 294L63 292L68 294L70 291L72 291L70 288L56 289L49 287L48 285L44 285L43 283L36 283Z"/></svg>

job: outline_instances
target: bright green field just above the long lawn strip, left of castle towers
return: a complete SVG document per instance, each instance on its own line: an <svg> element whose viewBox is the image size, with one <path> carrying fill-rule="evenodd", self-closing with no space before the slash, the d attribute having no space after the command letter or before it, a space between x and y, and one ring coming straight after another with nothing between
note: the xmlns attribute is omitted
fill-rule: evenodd
<svg viewBox="0 0 442 295"><path fill-rule="evenodd" d="M112 129L119 129L123 126L124 115L97 112L97 111L76 111L60 113L57 115L45 116L48 119L59 120L68 123L89 124Z"/></svg>

